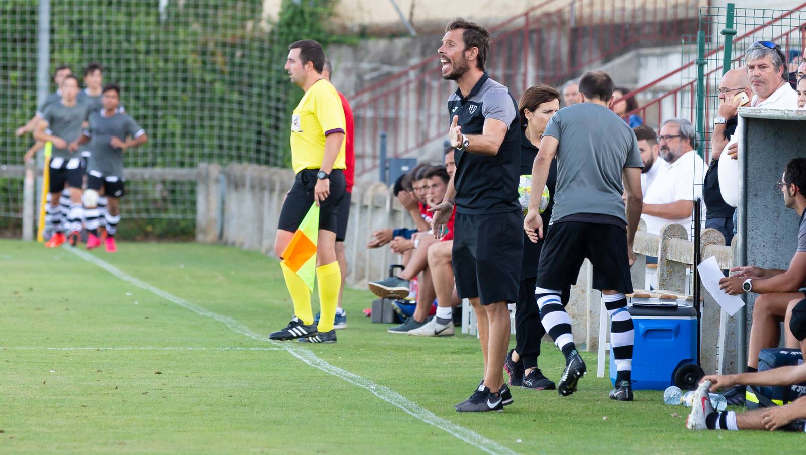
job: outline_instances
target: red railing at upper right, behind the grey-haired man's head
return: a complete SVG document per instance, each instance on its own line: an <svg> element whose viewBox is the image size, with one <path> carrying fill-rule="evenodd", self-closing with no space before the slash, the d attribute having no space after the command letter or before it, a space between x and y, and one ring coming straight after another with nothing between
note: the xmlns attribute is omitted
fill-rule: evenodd
<svg viewBox="0 0 806 455"><path fill-rule="evenodd" d="M753 43L756 39L762 39L758 37L759 33L764 33L767 31L768 34L774 33L772 27L775 27L774 30L778 31L777 35L772 35L771 37L765 36L763 39L770 39L775 43L779 43L783 49L789 49L792 46L793 42L796 42L796 48L803 49L804 48L804 27L806 27L806 17L800 16L797 14L800 10L806 8L806 3L801 4L800 6L796 6L794 10L787 11L780 16L771 19L758 27L754 27L752 30L747 31L746 33L738 36L736 39L733 40L733 49L740 51L735 57L733 57L734 62L740 62L744 58L743 50L750 47L750 44ZM783 25L784 20L789 20L787 25ZM792 19L795 19L794 21ZM786 30L780 32L781 30ZM795 38L796 35L797 38ZM720 53L724 51L724 46L719 46L718 48L714 49L711 52L708 52L705 55L705 59L708 61L715 61L720 58ZM684 64L680 68L675 69L674 71L668 72L667 74L659 77L658 79L651 81L649 84L643 85L638 89L633 90L630 93L625 93L625 96L621 98L621 100L628 99L629 97L641 97L644 93L651 93L653 89L659 85L662 85L664 82L669 82L671 78L676 77L682 79L683 72L687 71L689 68L692 68L696 64L696 60L692 60L687 64ZM705 73L705 96L706 97L715 97L716 93L714 90L717 89L717 81L722 77L722 65L718 64L715 68L709 70ZM655 89L656 91L657 89ZM650 126L657 127L659 126L664 119L667 118L687 118L692 123L694 122L694 117L696 114L696 76L692 77L691 81L680 85L679 87L672 89L667 93L663 93L660 96L650 97L650 101L646 101L642 105L638 107L638 109L633 110L626 114L629 117L630 114L638 114L644 122L649 124ZM621 101L617 100L617 101ZM616 102L617 102L616 101ZM705 105L705 118L710 119L713 118L716 113L714 112L715 105L714 103L706 103Z"/></svg>

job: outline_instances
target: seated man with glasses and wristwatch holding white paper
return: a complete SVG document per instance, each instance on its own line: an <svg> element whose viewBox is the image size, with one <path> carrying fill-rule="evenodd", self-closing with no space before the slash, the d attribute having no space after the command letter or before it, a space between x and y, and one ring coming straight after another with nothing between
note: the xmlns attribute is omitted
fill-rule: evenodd
<svg viewBox="0 0 806 455"><path fill-rule="evenodd" d="M758 353L778 346L781 333L779 323L784 321L784 340L787 348L797 349L800 344L787 329L791 308L804 298L800 289L806 281L806 158L792 159L783 170L783 178L775 185L783 194L783 204L795 209L800 216L800 230L795 255L788 270L767 270L759 267L737 267L734 275L723 278L719 284L730 295L743 292L760 294L753 307L753 325L750 328L750 350L747 371L758 369ZM736 386L723 395L729 404L744 404L745 387Z"/></svg>

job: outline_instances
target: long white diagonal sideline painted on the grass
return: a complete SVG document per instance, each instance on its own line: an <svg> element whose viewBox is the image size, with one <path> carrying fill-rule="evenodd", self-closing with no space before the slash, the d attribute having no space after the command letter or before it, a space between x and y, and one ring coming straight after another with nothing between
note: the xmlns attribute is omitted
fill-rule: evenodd
<svg viewBox="0 0 806 455"><path fill-rule="evenodd" d="M422 420L426 424L434 425L436 428L440 428L445 430L446 432L451 433L451 435L456 436L460 440L467 442L467 444L476 447L477 449L483 450L487 453L514 453L512 450L506 448L503 445L498 444L496 441L492 441L484 436L481 436L479 433L474 432L471 429L464 428L457 424L454 424L450 420L442 419L442 417L437 416L434 412L430 412L425 407L418 405L417 403L413 403L409 399L406 399L403 395L400 395L396 391L384 386L380 386L379 384L373 383L367 378L363 378L358 374L351 373L350 371L344 370L343 368L339 368L338 366L331 365L330 363L318 358L316 354L310 352L310 350L306 350L305 348L301 348L296 345L296 343L282 343L279 341L272 341L269 340L268 337L264 337L259 333L253 332L249 329L246 325L241 324L239 321L235 321L229 316L222 316L218 313L211 312L206 308L202 308L197 304L193 304L187 300L181 299L180 297L174 296L168 292L164 292L163 290L153 287L151 284L145 283L136 279L135 277L128 275L126 272L121 271L118 267L114 267L112 264L107 263L102 259L98 259L92 254L89 254L83 250L79 250L72 246L64 246L65 250L76 254L81 259L89 263L93 263L98 267L101 267L105 271L108 271L110 274L118 277L119 279L123 279L123 281L127 281L131 284L134 284L137 287L145 289L148 292L152 292L157 296L164 298L165 300L169 300L174 304L181 306L182 308L189 309L192 312L200 316L210 317L215 321L221 322L223 325L226 325L229 329L231 329L235 333L240 333L246 337L254 338L260 341L268 341L272 343L272 345L276 345L278 348L287 351L289 354L293 355L294 357L300 359L302 362L307 363L310 366L314 366L319 370L322 370L326 373L333 374L334 376L341 378L347 383L351 383L355 386L362 387L367 389L372 393L372 395L376 395L378 398L384 400L386 403L389 403L393 406L401 408L404 412L413 416L418 420Z"/></svg>

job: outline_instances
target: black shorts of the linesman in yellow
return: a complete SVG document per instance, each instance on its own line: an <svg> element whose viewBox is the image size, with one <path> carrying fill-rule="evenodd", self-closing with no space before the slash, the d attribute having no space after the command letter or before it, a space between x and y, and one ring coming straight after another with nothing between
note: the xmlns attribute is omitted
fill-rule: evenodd
<svg viewBox="0 0 806 455"><path fill-rule="evenodd" d="M305 214L314 204L314 186L318 169L305 169L297 174L294 184L285 196L283 208L280 209L280 221L277 229L294 232L305 218ZM339 203L344 196L344 173L341 169L330 172L330 196L319 203L319 229L338 232L339 229Z"/></svg>

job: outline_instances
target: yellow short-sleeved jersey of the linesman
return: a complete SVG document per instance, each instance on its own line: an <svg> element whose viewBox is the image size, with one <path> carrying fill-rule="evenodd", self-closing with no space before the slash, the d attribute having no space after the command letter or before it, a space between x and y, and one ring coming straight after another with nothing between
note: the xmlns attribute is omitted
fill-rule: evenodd
<svg viewBox="0 0 806 455"><path fill-rule="evenodd" d="M344 110L339 92L325 79L316 81L294 109L291 117L291 166L295 173L318 169L325 157L325 137L344 133ZM334 169L347 168L342 141Z"/></svg>

